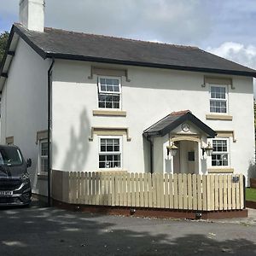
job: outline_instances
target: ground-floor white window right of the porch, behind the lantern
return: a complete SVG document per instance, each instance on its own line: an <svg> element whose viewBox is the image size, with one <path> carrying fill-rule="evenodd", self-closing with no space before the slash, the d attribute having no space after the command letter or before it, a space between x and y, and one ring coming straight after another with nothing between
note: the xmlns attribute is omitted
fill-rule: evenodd
<svg viewBox="0 0 256 256"><path fill-rule="evenodd" d="M212 140L212 166L229 166L228 139Z"/></svg>

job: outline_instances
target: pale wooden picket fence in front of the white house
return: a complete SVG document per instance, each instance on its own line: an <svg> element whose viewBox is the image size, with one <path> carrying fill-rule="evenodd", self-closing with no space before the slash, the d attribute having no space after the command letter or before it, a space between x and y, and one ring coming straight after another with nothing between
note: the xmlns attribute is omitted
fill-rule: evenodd
<svg viewBox="0 0 256 256"><path fill-rule="evenodd" d="M237 210L244 208L244 182L241 174L53 171L52 197L95 206Z"/></svg>

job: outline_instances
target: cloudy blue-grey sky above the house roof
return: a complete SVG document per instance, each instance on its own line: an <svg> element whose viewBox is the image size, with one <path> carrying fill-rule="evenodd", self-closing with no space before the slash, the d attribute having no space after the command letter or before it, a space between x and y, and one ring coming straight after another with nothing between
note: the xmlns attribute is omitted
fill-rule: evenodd
<svg viewBox="0 0 256 256"><path fill-rule="evenodd" d="M0 0L0 32L19 2ZM256 69L256 0L45 0L45 26L193 45Z"/></svg>

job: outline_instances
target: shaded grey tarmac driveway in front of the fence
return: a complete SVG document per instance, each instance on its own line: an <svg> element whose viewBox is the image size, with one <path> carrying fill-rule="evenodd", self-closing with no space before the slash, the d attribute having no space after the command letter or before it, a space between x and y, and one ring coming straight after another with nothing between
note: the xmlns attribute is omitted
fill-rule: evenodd
<svg viewBox="0 0 256 256"><path fill-rule="evenodd" d="M0 209L0 255L255 255L255 218L191 221ZM252 215L253 216L253 215Z"/></svg>

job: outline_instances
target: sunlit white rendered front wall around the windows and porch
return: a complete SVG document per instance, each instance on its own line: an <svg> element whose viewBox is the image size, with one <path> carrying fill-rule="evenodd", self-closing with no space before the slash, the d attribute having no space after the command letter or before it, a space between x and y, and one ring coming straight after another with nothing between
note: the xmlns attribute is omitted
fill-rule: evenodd
<svg viewBox="0 0 256 256"><path fill-rule="evenodd" d="M254 156L253 79L232 77L236 87L235 90L229 87L229 114L233 115L232 121L207 120L209 88L201 84L204 75L211 74L145 67L124 68L128 68L131 79L131 82L126 82L122 78L122 109L127 112L127 116L99 117L92 115L93 109L97 109L97 85L96 75L88 79L90 63L56 61L53 82L54 169L98 170L97 137L94 137L93 142L88 138L90 127L102 126L128 127L131 142L127 142L124 136L123 169L149 172L149 144L143 139L143 130L172 111L189 109L213 130L235 131L236 143L230 143L230 167L235 168L235 172L247 174ZM161 147L165 148L163 144ZM164 161L163 156L161 160L154 160L154 169L162 169ZM206 164L202 163L202 167L206 169Z"/></svg>

